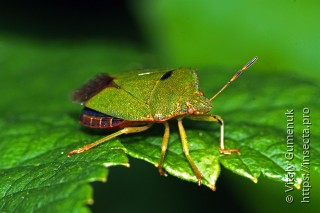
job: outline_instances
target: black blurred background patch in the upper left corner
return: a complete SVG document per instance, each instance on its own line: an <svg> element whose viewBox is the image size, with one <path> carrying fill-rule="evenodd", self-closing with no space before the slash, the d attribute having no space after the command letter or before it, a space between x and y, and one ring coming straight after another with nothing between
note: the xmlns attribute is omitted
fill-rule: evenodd
<svg viewBox="0 0 320 213"><path fill-rule="evenodd" d="M129 40L143 44L127 1L2 1L2 33L41 40Z"/></svg>

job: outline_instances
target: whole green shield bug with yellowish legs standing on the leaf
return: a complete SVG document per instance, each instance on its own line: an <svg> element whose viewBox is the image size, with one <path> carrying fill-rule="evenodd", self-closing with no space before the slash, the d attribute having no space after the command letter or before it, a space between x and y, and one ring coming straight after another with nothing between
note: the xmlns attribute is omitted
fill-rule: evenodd
<svg viewBox="0 0 320 213"><path fill-rule="evenodd" d="M201 185L202 175L189 154L182 120L187 118L218 122L220 153L239 153L238 149L225 149L223 120L217 115L209 114L209 111L212 108L211 102L257 59L251 59L211 98L206 98L200 91L195 69L142 70L117 78L106 74L98 75L73 93L72 99L84 105L80 123L89 128L117 131L70 151L68 156L84 152L119 135L146 131L154 123L162 123L164 135L158 170L161 175L166 175L163 163L170 136L168 120L176 119L183 152L197 177L198 184Z"/></svg>

